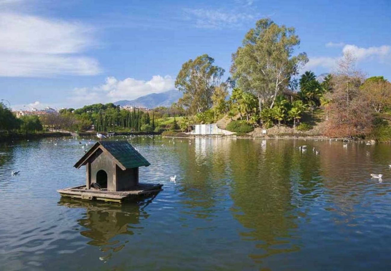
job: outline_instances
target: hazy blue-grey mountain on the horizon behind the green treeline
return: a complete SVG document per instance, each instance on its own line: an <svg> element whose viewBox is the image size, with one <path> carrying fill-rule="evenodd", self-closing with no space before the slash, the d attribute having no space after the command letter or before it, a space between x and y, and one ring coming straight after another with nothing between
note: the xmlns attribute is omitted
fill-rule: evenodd
<svg viewBox="0 0 391 271"><path fill-rule="evenodd" d="M182 93L176 89L173 89L166 92L148 94L130 101L116 101L114 104L120 106L133 105L146 108L155 108L159 106L169 107L172 103L176 103L181 97Z"/></svg>

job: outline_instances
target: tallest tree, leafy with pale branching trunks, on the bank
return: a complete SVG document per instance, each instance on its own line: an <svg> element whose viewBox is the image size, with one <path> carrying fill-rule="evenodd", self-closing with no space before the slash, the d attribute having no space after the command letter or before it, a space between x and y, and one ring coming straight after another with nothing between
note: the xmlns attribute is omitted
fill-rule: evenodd
<svg viewBox="0 0 391 271"><path fill-rule="evenodd" d="M232 56L231 74L237 85L273 108L277 95L292 83L301 65L307 63L305 53L293 56L300 44L293 27L278 26L270 19L256 22Z"/></svg>

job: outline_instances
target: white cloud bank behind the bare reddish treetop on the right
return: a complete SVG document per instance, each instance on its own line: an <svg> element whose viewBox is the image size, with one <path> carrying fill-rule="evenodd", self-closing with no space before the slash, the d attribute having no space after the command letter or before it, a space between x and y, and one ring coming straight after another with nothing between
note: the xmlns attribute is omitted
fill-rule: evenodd
<svg viewBox="0 0 391 271"><path fill-rule="evenodd" d="M342 49L342 54L350 52L359 61L378 60L384 61L391 59L391 47L389 45L382 45L379 47L358 47L356 45L346 44ZM342 56L336 57L310 57L308 63L303 70L314 69L316 67L323 67L326 69L334 69L339 59Z"/></svg>

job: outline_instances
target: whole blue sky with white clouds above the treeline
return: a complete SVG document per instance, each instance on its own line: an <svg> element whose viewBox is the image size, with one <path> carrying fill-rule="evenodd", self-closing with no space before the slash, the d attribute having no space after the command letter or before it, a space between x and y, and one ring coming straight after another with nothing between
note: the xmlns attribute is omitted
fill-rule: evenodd
<svg viewBox="0 0 391 271"><path fill-rule="evenodd" d="M256 20L295 27L305 69L352 51L391 80L391 1L0 0L0 99L15 109L134 99L170 90L183 62L207 53L229 76Z"/></svg>

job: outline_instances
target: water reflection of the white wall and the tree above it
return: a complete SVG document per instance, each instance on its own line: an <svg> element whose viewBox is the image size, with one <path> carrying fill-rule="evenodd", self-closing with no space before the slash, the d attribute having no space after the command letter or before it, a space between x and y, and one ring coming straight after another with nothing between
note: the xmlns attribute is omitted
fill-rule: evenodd
<svg viewBox="0 0 391 271"><path fill-rule="evenodd" d="M216 202L226 197L226 171L231 144L229 139L197 138L192 145L185 143L178 152L179 166L183 170L181 188L184 200L195 217L207 219L213 216ZM187 199L189 198L189 199Z"/></svg>

